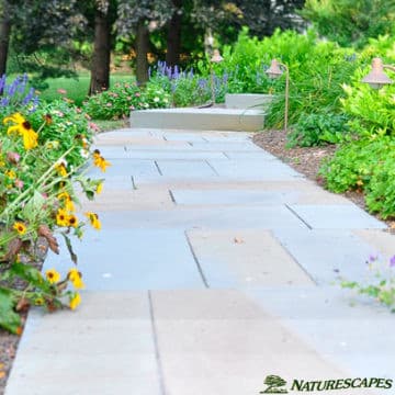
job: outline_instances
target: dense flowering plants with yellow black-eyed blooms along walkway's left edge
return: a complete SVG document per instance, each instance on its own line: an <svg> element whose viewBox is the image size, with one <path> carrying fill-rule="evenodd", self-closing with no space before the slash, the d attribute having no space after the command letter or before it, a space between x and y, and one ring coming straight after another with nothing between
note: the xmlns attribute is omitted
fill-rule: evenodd
<svg viewBox="0 0 395 395"><path fill-rule="evenodd" d="M79 217L76 185L93 199L102 180L82 169L90 158L103 171L110 165L90 151L93 132L79 109L65 101L42 105L22 90L25 81L4 82L0 109L0 327L16 334L18 313L30 305L54 311L80 303L83 282L71 237L82 238L87 223L99 229L100 221L95 213ZM59 252L57 235L70 251L70 270L42 274L37 262L43 249Z"/></svg>

